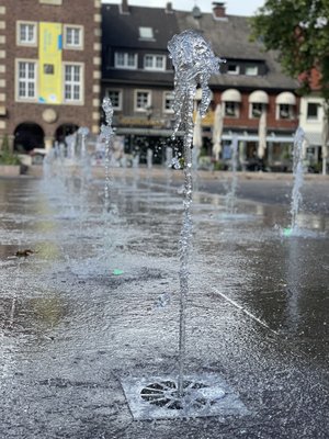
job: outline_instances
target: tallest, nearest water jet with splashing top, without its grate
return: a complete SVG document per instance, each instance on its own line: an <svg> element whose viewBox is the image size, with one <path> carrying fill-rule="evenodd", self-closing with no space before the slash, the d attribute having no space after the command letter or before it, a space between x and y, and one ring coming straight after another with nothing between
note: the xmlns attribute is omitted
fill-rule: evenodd
<svg viewBox="0 0 329 439"><path fill-rule="evenodd" d="M185 314L189 295L189 259L192 238L192 148L193 148L193 99L196 87L202 89L198 108L204 116L211 102L208 80L219 72L220 59L215 57L209 44L195 31L183 31L168 43L168 49L174 67L175 123L173 137L180 127L184 131L183 160L184 170L184 214L180 235L180 339L179 339L179 380L178 394L183 397L183 369L185 359Z"/></svg>

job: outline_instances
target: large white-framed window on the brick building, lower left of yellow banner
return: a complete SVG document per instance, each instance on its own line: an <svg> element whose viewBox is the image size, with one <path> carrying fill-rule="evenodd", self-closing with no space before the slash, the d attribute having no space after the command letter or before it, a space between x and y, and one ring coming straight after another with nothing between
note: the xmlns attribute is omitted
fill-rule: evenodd
<svg viewBox="0 0 329 439"><path fill-rule="evenodd" d="M36 61L19 60L16 64L18 100L36 99Z"/></svg>

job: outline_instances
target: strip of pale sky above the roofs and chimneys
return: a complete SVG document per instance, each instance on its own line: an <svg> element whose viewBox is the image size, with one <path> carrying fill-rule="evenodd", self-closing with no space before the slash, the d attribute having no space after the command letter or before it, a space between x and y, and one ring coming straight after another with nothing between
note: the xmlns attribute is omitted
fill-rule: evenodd
<svg viewBox="0 0 329 439"><path fill-rule="evenodd" d="M211 12L213 0L128 0L131 5L164 8L171 1L173 9L192 11L197 5L201 11ZM121 3L121 0L102 0L102 3ZM229 15L252 15L264 4L264 0L226 0L226 12Z"/></svg>

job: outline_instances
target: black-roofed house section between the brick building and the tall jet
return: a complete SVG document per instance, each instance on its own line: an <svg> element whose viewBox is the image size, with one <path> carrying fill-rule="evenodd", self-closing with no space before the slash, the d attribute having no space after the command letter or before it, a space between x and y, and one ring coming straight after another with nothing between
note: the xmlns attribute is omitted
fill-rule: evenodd
<svg viewBox="0 0 329 439"><path fill-rule="evenodd" d="M171 4L167 8L102 5L102 94L111 98L113 125L126 151L155 161L170 144L173 69L168 42L179 33Z"/></svg>

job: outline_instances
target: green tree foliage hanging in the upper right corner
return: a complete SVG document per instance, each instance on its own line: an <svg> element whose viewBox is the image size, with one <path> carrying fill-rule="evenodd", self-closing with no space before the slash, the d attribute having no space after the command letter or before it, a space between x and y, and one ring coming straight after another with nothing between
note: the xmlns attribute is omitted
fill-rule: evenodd
<svg viewBox="0 0 329 439"><path fill-rule="evenodd" d="M250 20L252 38L279 50L285 72L299 78L300 94L310 92L310 71L317 68L321 94L329 100L329 1L265 0Z"/></svg>

